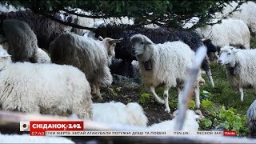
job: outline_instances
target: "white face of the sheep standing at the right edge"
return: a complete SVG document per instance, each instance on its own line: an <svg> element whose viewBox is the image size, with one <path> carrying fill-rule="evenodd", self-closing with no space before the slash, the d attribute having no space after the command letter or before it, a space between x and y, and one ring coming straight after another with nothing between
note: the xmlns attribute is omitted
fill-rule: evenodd
<svg viewBox="0 0 256 144"><path fill-rule="evenodd" d="M234 54L240 49L235 49L233 46L223 46L220 51L220 57L218 58L218 64L227 65L234 63Z"/></svg>

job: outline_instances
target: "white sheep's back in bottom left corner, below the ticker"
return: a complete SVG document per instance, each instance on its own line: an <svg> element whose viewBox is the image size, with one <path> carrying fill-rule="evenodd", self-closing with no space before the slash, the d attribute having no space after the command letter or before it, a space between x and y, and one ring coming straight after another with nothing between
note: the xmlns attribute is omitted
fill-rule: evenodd
<svg viewBox="0 0 256 144"><path fill-rule="evenodd" d="M2 143L74 143L64 137L31 137L29 134L0 134L0 141Z"/></svg>

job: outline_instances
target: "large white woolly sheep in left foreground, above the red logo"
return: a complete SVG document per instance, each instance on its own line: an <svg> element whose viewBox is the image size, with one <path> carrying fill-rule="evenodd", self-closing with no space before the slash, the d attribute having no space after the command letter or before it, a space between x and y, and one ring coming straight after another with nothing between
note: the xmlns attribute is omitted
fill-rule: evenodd
<svg viewBox="0 0 256 144"><path fill-rule="evenodd" d="M92 118L89 82L73 66L12 63L0 46L0 87L2 110Z"/></svg>

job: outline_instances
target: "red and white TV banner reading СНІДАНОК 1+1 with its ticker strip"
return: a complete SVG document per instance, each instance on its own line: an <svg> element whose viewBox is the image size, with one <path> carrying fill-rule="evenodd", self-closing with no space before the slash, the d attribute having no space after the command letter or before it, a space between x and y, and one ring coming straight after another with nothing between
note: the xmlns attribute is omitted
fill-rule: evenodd
<svg viewBox="0 0 256 144"><path fill-rule="evenodd" d="M30 121L20 122L20 131L30 131L31 136L236 136L236 131L92 131L83 126L83 121Z"/></svg>

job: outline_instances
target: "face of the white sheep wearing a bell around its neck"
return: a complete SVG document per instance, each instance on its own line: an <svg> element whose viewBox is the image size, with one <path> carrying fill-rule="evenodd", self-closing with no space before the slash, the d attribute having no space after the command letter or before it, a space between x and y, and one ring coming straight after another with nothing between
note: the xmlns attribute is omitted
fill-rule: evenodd
<svg viewBox="0 0 256 144"><path fill-rule="evenodd" d="M132 45L131 54L133 56L143 54L146 50L147 45L153 44L150 38L147 38L142 34L135 34L133 37L130 38L130 42Z"/></svg>

